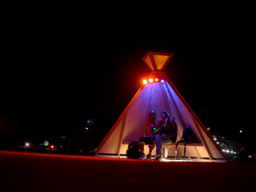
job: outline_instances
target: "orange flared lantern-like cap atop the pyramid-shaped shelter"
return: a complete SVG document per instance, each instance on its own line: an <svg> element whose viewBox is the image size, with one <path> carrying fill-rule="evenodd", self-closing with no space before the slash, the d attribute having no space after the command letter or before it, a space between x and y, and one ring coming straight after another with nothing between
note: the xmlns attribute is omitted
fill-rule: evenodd
<svg viewBox="0 0 256 192"><path fill-rule="evenodd" d="M174 54L149 51L142 58L150 70L164 70Z"/></svg>

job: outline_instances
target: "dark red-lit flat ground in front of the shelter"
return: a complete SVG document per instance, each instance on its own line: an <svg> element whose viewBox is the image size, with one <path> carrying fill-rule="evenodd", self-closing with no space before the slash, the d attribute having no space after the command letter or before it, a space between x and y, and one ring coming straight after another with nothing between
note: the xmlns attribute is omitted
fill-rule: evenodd
<svg viewBox="0 0 256 192"><path fill-rule="evenodd" d="M254 162L147 162L0 150L1 191L250 191Z"/></svg>

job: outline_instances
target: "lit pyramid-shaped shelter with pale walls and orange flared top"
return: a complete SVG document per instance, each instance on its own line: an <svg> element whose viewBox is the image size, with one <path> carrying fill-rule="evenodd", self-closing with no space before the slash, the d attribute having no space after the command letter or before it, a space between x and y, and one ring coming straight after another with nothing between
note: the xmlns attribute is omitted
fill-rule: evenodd
<svg viewBox="0 0 256 192"><path fill-rule="evenodd" d="M134 98L98 146L96 156L126 158L129 142L138 141L138 138L144 133L148 112L155 110L157 118L160 118L160 113L167 110L175 118L178 125L177 141L181 139L182 130L186 126L190 126L197 137L197 143L186 146L185 159L200 162L227 162L225 154L222 154L221 148L214 142L212 135L163 72L173 56L174 54L148 52L142 58L152 70L148 79L152 78L153 82L148 82L139 88ZM166 149L166 158L174 159L175 144L166 147ZM145 147L145 150L147 153L148 147ZM184 146L178 147L179 159L183 157L183 150ZM155 154L155 149L152 154Z"/></svg>

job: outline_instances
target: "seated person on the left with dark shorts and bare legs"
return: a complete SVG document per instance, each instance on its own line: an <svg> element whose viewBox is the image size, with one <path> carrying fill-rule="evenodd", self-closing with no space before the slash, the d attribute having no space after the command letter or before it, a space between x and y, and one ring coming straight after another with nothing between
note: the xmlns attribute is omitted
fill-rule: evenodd
<svg viewBox="0 0 256 192"><path fill-rule="evenodd" d="M160 123L162 119L156 119L156 113L154 110L150 110L149 118L146 121L146 129L145 133L141 138L138 139L138 145L141 147L141 156L138 158L139 160L151 160L152 150L154 149L154 137L159 131ZM144 146L149 146L149 154L145 154Z"/></svg>

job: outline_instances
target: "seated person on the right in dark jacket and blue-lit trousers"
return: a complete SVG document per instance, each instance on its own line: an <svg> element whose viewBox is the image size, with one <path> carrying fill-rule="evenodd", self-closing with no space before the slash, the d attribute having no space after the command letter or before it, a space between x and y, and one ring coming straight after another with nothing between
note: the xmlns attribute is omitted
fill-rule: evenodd
<svg viewBox="0 0 256 192"><path fill-rule="evenodd" d="M160 124L160 133L155 136L157 146L156 155L154 160L162 160L162 145L176 142L177 138L177 124L174 117L166 111L161 113L162 122Z"/></svg>

